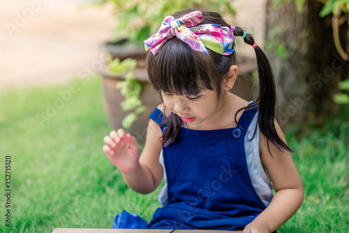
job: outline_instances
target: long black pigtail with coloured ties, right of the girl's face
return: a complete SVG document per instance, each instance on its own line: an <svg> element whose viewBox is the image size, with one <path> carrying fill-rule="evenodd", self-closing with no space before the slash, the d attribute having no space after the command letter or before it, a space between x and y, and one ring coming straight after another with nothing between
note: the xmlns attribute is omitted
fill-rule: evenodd
<svg viewBox="0 0 349 233"><path fill-rule="evenodd" d="M274 116L276 105L276 85L272 66L270 66L267 56L265 55L263 50L255 43L251 34L246 34L243 29L235 26L234 35L242 36L244 38L244 42L248 45L253 46L253 48L255 49L259 77L259 95L255 105L259 105L258 125L260 127L260 131L267 137L268 140L272 141L272 143L274 143L274 145L279 148L279 150L282 151L283 149L285 149L290 152L295 152L280 139L275 129ZM267 146L269 149L269 143L267 144Z"/></svg>

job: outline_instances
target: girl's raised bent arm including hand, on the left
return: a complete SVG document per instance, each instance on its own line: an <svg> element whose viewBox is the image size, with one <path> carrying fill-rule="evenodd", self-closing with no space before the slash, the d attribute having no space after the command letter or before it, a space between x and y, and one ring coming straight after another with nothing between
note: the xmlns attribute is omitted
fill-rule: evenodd
<svg viewBox="0 0 349 233"><path fill-rule="evenodd" d="M120 169L128 187L136 192L152 192L161 183L163 167L158 162L162 148L161 135L156 122L149 120L142 155L139 155L135 138L126 134L124 129L111 132L110 136L105 137L103 150L115 167Z"/></svg>

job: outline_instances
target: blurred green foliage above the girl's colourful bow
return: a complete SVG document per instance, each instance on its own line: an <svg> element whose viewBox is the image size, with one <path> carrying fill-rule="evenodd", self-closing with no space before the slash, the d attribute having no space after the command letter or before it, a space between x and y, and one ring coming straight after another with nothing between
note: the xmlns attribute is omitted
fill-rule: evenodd
<svg viewBox="0 0 349 233"><path fill-rule="evenodd" d="M117 26L114 29L114 40L127 38L128 42L143 45L145 38L156 33L165 16L184 8L209 9L223 15L235 15L235 9L226 0L94 0L96 5L112 3Z"/></svg>

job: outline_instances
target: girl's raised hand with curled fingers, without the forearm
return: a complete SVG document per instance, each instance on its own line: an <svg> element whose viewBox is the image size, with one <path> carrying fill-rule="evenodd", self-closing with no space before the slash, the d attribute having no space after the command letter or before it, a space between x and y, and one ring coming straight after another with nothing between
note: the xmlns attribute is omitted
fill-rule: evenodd
<svg viewBox="0 0 349 233"><path fill-rule="evenodd" d="M115 167L123 172L133 171L139 165L140 147L135 137L124 129L114 130L104 137L103 151Z"/></svg>

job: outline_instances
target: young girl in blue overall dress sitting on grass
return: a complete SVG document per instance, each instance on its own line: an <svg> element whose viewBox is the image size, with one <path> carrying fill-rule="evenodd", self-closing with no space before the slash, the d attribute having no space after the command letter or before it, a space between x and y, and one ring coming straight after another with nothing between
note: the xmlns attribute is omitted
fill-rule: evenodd
<svg viewBox="0 0 349 233"><path fill-rule="evenodd" d="M235 36L255 50L256 102L229 92L239 69ZM304 192L274 120L272 69L253 36L218 13L187 9L165 17L144 45L163 104L149 116L142 155L124 129L105 136L103 150L136 192L152 192L164 178L163 207L150 223L123 211L113 228L274 232L299 209Z"/></svg>

